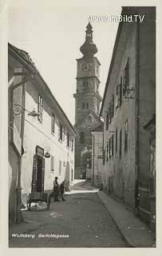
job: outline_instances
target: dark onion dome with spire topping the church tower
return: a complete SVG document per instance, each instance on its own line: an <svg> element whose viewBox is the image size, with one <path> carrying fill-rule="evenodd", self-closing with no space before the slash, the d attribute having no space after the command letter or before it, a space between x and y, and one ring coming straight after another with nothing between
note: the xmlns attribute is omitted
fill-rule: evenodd
<svg viewBox="0 0 162 256"><path fill-rule="evenodd" d="M80 48L81 53L84 56L93 56L98 50L97 46L93 43L93 27L91 26L90 22L86 26L85 33L85 42Z"/></svg>

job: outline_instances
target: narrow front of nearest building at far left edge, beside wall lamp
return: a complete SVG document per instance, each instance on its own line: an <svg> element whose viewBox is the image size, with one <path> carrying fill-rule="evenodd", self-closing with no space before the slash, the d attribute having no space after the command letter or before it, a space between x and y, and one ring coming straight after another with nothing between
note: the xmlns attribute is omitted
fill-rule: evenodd
<svg viewBox="0 0 162 256"><path fill-rule="evenodd" d="M23 111L14 102L23 106L24 85L23 64L8 46L8 177L9 177L9 222L21 222L21 164L23 138ZM30 77L29 77L30 79Z"/></svg>

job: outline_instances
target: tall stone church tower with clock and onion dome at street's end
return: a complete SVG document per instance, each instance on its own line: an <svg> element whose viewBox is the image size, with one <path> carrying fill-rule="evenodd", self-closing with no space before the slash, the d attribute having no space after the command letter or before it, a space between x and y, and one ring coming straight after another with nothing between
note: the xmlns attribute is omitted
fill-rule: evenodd
<svg viewBox="0 0 162 256"><path fill-rule="evenodd" d="M75 128L78 137L75 143L75 178L91 178L92 135L90 130L101 125L99 110L101 95L100 62L97 46L93 43L93 28L89 22L85 42L80 48L82 58L77 59L77 92L75 98Z"/></svg>

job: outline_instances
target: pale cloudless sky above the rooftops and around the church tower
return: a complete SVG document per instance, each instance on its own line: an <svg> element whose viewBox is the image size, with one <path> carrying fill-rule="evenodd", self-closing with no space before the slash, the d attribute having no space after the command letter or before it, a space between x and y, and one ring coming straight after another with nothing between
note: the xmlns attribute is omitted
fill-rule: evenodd
<svg viewBox="0 0 162 256"><path fill-rule="evenodd" d="M71 3L66 6L65 3ZM77 2L78 3L78 2ZM79 6L73 1L59 5L52 0L12 0L9 9L9 42L30 54L45 82L69 121L75 122L77 58L85 42L89 16L120 15L121 5L108 1L107 6ZM95 55L101 62L101 96L109 73L117 22L91 22Z"/></svg>

